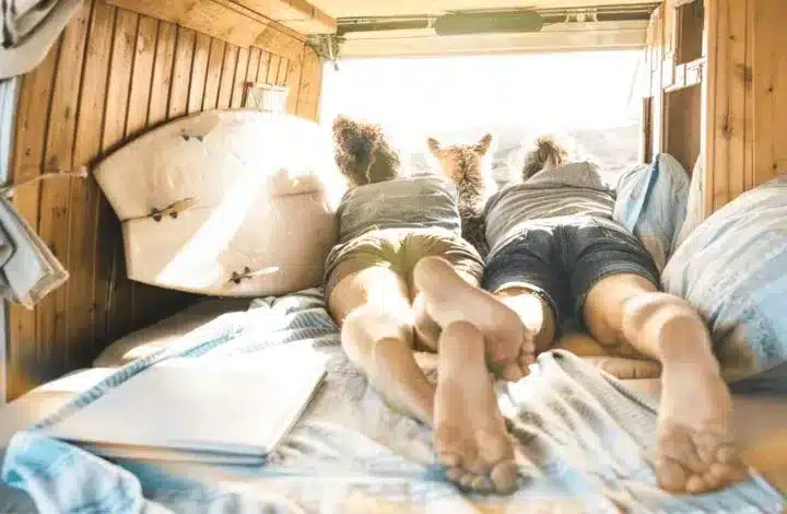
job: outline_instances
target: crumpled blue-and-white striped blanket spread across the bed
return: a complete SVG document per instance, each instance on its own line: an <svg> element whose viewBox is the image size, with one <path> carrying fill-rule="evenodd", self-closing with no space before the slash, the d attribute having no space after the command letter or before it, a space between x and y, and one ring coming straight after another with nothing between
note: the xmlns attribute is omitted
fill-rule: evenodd
<svg viewBox="0 0 787 514"><path fill-rule="evenodd" d="M2 479L42 512L782 512L760 477L725 491L670 495L643 457L655 442L651 402L571 353L543 353L531 374L501 384L517 439L519 488L506 498L461 494L435 464L428 429L388 409L344 358L319 290L256 301L86 390L49 420L110 394L173 358L235 359L272 344L333 354L321 394L262 467L110 463L35 430L16 434ZM23 514L23 513L19 513Z"/></svg>

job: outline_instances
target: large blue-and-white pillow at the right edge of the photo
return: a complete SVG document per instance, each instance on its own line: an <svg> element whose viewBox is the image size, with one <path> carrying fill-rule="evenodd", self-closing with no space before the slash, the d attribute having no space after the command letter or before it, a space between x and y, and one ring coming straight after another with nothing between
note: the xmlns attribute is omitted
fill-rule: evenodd
<svg viewBox="0 0 787 514"><path fill-rule="evenodd" d="M727 378L785 362L787 176L741 195L701 223L661 281L705 317Z"/></svg>

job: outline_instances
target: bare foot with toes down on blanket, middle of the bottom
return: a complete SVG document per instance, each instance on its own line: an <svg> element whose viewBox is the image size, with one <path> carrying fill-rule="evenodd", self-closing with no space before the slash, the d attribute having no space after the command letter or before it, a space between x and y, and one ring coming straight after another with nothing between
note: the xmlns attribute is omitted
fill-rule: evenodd
<svg viewBox="0 0 787 514"><path fill-rule="evenodd" d="M435 443L448 478L462 489L510 493L514 444L484 365L484 341L471 324L446 325L439 340Z"/></svg>

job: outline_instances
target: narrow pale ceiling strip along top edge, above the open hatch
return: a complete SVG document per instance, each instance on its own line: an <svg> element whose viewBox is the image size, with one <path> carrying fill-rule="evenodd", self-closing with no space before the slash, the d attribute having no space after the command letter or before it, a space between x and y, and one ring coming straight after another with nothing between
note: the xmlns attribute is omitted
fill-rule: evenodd
<svg viewBox="0 0 787 514"><path fill-rule="evenodd" d="M493 9L565 9L634 5L648 0L310 0L334 19L443 14L449 11Z"/></svg>

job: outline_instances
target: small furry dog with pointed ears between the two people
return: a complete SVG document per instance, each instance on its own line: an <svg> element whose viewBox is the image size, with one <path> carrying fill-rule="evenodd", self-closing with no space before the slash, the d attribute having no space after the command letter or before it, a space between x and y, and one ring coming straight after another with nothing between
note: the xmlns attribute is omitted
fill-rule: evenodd
<svg viewBox="0 0 787 514"><path fill-rule="evenodd" d="M486 200L497 190L492 170L483 159L490 150L492 135L488 133L475 144L454 144L443 148L428 139L428 149L441 163L446 177L457 186L459 215L465 237L482 256L489 253L483 212Z"/></svg>

